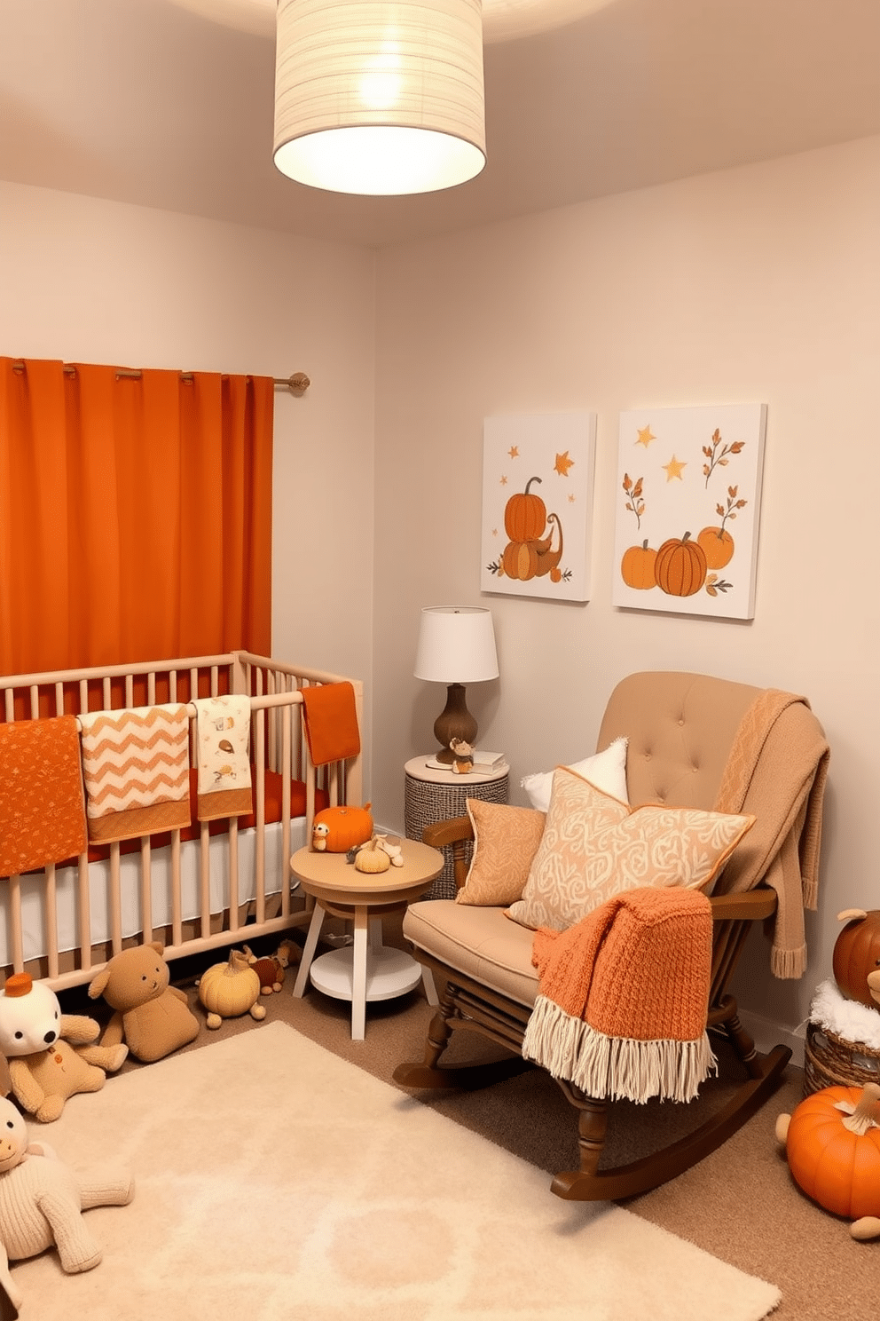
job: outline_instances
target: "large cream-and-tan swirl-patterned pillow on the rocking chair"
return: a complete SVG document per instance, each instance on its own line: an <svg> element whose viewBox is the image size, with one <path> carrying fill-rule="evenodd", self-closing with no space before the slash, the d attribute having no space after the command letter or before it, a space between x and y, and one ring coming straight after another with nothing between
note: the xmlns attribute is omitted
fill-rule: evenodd
<svg viewBox="0 0 880 1321"><path fill-rule="evenodd" d="M522 898L508 915L565 931L639 885L706 889L753 824L694 807L628 807L559 766Z"/></svg>

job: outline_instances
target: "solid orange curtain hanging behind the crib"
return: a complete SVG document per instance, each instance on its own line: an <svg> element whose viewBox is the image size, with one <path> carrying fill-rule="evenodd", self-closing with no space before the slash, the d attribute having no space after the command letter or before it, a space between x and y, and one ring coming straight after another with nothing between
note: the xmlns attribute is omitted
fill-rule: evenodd
<svg viewBox="0 0 880 1321"><path fill-rule="evenodd" d="M0 674L272 641L273 382L0 358Z"/></svg>

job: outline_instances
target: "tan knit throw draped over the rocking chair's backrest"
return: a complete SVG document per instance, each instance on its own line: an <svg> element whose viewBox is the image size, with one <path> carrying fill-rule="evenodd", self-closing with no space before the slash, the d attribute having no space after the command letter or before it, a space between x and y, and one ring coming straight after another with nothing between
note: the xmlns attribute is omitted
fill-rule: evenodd
<svg viewBox="0 0 880 1321"><path fill-rule="evenodd" d="M818 904L829 756L806 697L767 688L740 721L715 799L715 811L755 814L715 893L741 893L759 880L776 890L770 970L777 978L806 970L803 909Z"/></svg>

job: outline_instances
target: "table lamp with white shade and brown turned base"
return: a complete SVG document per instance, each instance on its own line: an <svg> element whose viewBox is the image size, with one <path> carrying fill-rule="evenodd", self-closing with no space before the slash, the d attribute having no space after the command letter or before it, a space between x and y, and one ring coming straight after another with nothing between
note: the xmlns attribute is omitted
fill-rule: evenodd
<svg viewBox="0 0 880 1321"><path fill-rule="evenodd" d="M474 746L476 720L464 703L464 684L497 679L492 613L470 605L427 605L422 610L416 651L417 679L445 683L446 705L434 721L441 744L437 761L451 765L450 742Z"/></svg>

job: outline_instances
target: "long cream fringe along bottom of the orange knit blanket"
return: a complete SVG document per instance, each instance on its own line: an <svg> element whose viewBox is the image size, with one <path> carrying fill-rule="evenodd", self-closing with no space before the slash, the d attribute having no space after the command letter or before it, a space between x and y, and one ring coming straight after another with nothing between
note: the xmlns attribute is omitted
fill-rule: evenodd
<svg viewBox="0 0 880 1321"><path fill-rule="evenodd" d="M693 1100L710 1073L718 1073L705 1032L697 1041L607 1037L546 996L534 1001L522 1055L587 1096L639 1104L652 1096Z"/></svg>

